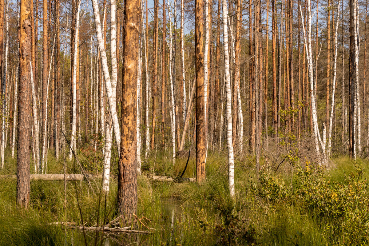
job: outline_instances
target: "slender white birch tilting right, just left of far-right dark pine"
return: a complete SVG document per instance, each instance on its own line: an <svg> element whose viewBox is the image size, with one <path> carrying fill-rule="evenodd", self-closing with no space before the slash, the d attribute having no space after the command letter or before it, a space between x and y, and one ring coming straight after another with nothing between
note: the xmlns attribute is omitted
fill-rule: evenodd
<svg viewBox="0 0 369 246"><path fill-rule="evenodd" d="M336 21L336 30L334 33L334 63L333 63L333 80L332 80L332 101L331 101L331 113L329 119L329 133L328 133L328 157L331 156L331 146L332 146L332 124L333 124L333 112L334 112L334 104L335 104L335 89L336 89L336 77L337 77L337 32L338 32L338 20L339 20L339 4L338 4L338 13L337 13L337 21Z"/></svg>

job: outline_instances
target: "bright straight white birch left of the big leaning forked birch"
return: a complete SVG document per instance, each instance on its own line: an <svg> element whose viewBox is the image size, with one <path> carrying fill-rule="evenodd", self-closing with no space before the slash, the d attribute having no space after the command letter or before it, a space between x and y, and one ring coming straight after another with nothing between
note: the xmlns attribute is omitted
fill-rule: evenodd
<svg viewBox="0 0 369 246"><path fill-rule="evenodd" d="M73 152L75 151L75 142L76 142L76 130L77 130L77 117L76 117L76 103L77 103L77 96L76 96L76 84L77 84L77 48L78 48L78 31L79 31L79 11L81 7L81 1L77 0L77 20L76 20L76 33L75 33L75 46L74 46L74 56L73 56L73 82L72 82L72 90L73 90L73 101L72 101L72 132L70 135L70 145L69 145L69 156L68 159L72 159ZM53 49L54 50L54 49ZM47 100L46 100L47 101ZM46 119L47 120L47 119ZM46 125L46 124L45 124ZM45 146L45 145L43 145ZM44 156L44 154L42 154ZM44 158L42 158L44 159ZM44 162L42 161L42 166Z"/></svg>

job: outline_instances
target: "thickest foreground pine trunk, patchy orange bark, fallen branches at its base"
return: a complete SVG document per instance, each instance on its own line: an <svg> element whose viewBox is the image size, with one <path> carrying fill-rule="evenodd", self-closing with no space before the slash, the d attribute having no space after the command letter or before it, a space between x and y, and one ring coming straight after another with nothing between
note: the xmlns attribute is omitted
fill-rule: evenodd
<svg viewBox="0 0 369 246"><path fill-rule="evenodd" d="M137 62L139 51L139 0L124 4L121 155L118 164L118 211L126 224L137 209Z"/></svg>

